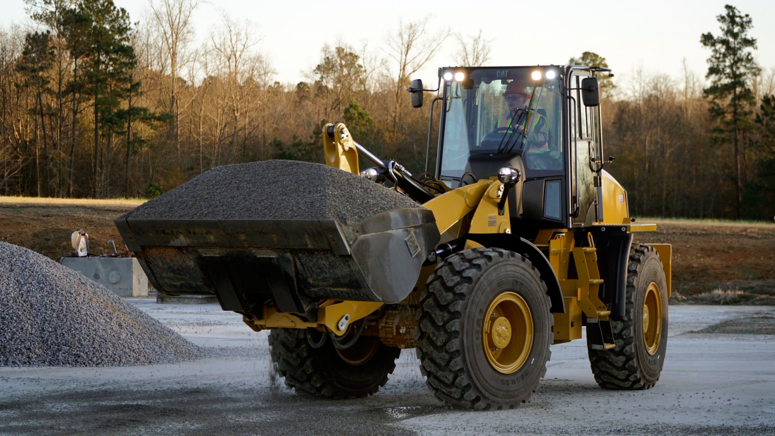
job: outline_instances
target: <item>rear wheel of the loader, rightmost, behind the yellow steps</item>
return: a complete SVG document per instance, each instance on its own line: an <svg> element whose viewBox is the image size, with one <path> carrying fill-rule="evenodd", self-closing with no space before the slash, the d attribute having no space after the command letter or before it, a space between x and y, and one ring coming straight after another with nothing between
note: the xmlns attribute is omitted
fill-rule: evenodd
<svg viewBox="0 0 775 436"><path fill-rule="evenodd" d="M650 389L665 362L667 280L660 256L649 245L630 249L625 301L625 316L609 318L616 348L594 350L587 335L592 373L606 389Z"/></svg>

